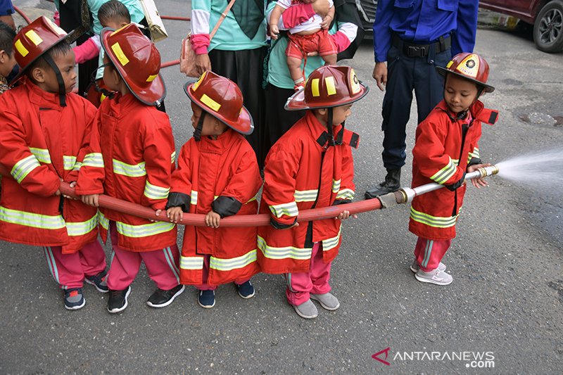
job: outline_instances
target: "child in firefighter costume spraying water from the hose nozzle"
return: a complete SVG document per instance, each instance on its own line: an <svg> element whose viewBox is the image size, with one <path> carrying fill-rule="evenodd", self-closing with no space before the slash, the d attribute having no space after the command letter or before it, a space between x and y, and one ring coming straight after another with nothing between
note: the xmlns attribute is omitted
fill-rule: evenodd
<svg viewBox="0 0 563 375"><path fill-rule="evenodd" d="M415 260L410 269L418 281L448 285L453 279L441 262L451 240L463 203L465 173L488 166L479 158L481 122L493 125L498 112L484 108L478 100L493 92L486 84L488 63L475 53L459 53L446 68L444 99L417 127L412 150L412 186L430 182L447 189L416 196L410 209L409 230L418 236ZM477 188L484 179L472 179Z"/></svg>

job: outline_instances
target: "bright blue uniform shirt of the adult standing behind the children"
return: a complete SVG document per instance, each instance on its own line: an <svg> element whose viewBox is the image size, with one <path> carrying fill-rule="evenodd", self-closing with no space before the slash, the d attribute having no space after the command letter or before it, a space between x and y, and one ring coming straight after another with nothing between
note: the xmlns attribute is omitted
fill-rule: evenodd
<svg viewBox="0 0 563 375"><path fill-rule="evenodd" d="M478 0L379 0L374 22L375 61L386 61L393 33L418 44L452 37L452 56L472 52L477 31Z"/></svg>

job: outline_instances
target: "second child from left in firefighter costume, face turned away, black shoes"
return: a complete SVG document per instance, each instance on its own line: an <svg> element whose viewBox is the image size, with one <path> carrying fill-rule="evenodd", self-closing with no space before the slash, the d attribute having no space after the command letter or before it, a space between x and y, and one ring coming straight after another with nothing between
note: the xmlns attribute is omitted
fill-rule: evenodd
<svg viewBox="0 0 563 375"><path fill-rule="evenodd" d="M106 52L103 82L115 95L101 103L91 147L103 155L105 176L99 170L81 170L76 191L89 204L97 205L97 194L103 191L150 207L158 215L166 205L176 155L170 120L155 107L166 92L159 74L160 53L134 24L117 31L103 29L101 43ZM175 224L100 211L100 234L105 241L109 231L113 247L108 311L125 310L141 262L157 286L147 305L170 305L184 291Z"/></svg>

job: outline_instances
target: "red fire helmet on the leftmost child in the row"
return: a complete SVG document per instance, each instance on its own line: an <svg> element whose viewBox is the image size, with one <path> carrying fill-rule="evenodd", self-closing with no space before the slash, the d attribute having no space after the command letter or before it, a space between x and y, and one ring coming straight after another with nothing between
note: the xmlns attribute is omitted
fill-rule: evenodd
<svg viewBox="0 0 563 375"><path fill-rule="evenodd" d="M25 26L15 36L13 51L15 61L20 65L20 72L10 82L14 84L23 77L25 70L53 48L67 36L65 30L61 29L46 18L44 15Z"/></svg>

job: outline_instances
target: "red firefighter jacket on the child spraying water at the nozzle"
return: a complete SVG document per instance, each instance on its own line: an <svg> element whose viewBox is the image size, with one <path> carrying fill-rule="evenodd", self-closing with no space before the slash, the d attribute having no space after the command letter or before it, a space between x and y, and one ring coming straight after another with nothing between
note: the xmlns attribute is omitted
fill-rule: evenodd
<svg viewBox="0 0 563 375"><path fill-rule="evenodd" d="M481 101L476 101L469 111L472 121L468 127L467 121L458 120L441 101L418 125L412 150L413 187L430 182L453 185L464 179L467 165L482 163L478 146L481 122L494 124L498 112L483 108ZM416 196L410 209L409 230L424 239L455 238L465 189L466 184L462 184L455 191L439 189Z"/></svg>

